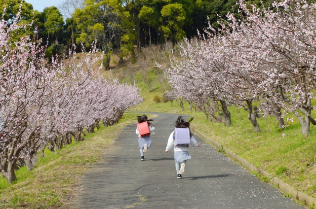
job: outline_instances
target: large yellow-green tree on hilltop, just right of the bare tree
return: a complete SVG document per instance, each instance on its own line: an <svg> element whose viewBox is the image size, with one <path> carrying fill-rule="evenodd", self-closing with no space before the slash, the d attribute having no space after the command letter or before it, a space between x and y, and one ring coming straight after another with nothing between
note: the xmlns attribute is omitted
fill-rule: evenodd
<svg viewBox="0 0 316 209"><path fill-rule="evenodd" d="M83 9L76 9L73 17L81 31L76 42L89 47L97 40L98 46L107 56L106 69L109 70L110 57L114 45L118 47L120 62L129 53L134 54L132 41L135 39L130 24L130 14L125 12L119 0L86 0Z"/></svg>

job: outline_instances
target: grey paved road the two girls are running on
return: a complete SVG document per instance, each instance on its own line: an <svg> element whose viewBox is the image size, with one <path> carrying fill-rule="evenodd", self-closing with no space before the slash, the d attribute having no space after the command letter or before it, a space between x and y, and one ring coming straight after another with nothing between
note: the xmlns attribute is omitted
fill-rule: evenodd
<svg viewBox="0 0 316 209"><path fill-rule="evenodd" d="M155 113L156 114L156 113ZM155 118L152 147L140 160L136 125L104 150L102 162L82 177L82 209L303 209L267 183L261 183L197 135L182 179L177 179L173 151L165 153L178 115Z"/></svg>

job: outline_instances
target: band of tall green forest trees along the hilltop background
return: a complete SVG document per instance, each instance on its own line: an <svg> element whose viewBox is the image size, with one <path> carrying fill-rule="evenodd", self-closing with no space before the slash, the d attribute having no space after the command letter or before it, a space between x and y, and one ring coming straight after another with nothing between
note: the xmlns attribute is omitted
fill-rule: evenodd
<svg viewBox="0 0 316 209"><path fill-rule="evenodd" d="M0 0L0 6L6 5L4 19L8 24L14 20L20 3ZM217 14L237 11L237 6L235 0L64 0L58 8L46 7L42 12L23 1L21 9L20 21L33 21L38 36L44 40L42 45L48 41L46 57L65 52L72 37L87 48L97 39L97 47L105 52L104 66L109 69L114 50L118 50L119 63L128 55L136 62L133 45L140 51L142 46L195 36L197 30L207 27L207 18L217 28ZM25 35L23 31L18 34Z"/></svg>

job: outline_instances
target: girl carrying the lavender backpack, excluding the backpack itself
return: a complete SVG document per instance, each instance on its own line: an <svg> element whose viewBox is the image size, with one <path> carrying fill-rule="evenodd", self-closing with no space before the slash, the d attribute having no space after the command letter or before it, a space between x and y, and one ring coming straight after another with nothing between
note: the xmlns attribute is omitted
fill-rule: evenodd
<svg viewBox="0 0 316 209"><path fill-rule="evenodd" d="M189 128L190 129L190 122L186 122L182 119L182 116L179 116L176 121L176 128ZM194 139L192 136L192 132L190 131L190 144L192 146L199 147L199 144L197 143L197 140ZM167 147L165 152L168 153L168 151L173 147L174 151L174 160L176 162L176 170L177 170L177 178L182 178L184 168L186 166L186 162L188 159L191 159L191 156L188 152L188 146L175 146L174 145L174 132L172 132L169 136ZM181 164L181 167L180 167Z"/></svg>

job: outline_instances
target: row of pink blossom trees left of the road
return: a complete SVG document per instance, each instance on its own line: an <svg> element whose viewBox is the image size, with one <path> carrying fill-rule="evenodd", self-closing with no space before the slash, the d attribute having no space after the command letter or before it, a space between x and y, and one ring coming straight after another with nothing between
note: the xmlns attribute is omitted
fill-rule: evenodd
<svg viewBox="0 0 316 209"><path fill-rule="evenodd" d="M84 127L93 132L100 120L112 125L142 102L138 88L92 69L100 62L95 43L80 60L73 44L68 61L54 56L47 64L37 30L33 38L13 41L17 31L32 31L32 25L18 24L20 17L21 7L10 24L0 22L0 171L9 183L16 180L17 164L33 168L39 149L56 151L83 140Z"/></svg>

